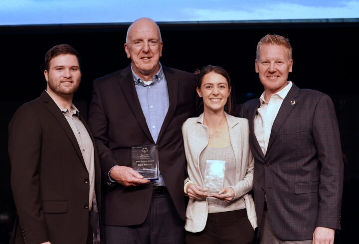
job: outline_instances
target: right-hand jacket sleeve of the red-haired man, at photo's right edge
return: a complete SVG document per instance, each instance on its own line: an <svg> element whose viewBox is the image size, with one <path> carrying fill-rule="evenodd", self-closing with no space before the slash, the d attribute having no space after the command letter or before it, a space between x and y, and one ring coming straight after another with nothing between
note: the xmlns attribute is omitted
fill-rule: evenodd
<svg viewBox="0 0 359 244"><path fill-rule="evenodd" d="M313 137L322 166L316 226L340 230L344 163L338 121L333 102L327 95L317 103Z"/></svg>

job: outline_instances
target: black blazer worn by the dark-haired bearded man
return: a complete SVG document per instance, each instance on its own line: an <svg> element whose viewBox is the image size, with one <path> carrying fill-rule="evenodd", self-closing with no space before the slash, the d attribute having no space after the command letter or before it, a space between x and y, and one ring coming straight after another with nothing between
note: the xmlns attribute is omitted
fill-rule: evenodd
<svg viewBox="0 0 359 244"><path fill-rule="evenodd" d="M11 243L86 243L89 174L70 125L46 92L15 112L9 124L8 153L17 210ZM99 207L100 171L95 148Z"/></svg>

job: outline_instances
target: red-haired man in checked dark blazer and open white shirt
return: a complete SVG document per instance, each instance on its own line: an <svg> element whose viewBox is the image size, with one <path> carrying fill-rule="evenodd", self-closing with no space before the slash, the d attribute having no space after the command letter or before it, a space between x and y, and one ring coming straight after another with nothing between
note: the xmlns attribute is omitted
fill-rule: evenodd
<svg viewBox="0 0 359 244"><path fill-rule="evenodd" d="M262 244L333 244L340 229L343 158L333 102L288 81L292 48L280 35L257 45L260 99L246 102Z"/></svg>

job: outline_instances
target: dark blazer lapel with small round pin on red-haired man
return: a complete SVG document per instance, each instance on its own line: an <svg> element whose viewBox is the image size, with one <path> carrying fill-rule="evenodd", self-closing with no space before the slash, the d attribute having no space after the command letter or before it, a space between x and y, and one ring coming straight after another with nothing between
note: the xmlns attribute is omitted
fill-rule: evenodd
<svg viewBox="0 0 359 244"><path fill-rule="evenodd" d="M299 88L292 83L292 88L289 90L287 96L284 98L283 103L278 111L277 117L275 118L271 134L269 137L268 147L267 147L267 153L270 150L271 145L273 144L273 141L282 126L283 122L287 119L290 112L294 109L294 107L298 104L298 96L299 96Z"/></svg>

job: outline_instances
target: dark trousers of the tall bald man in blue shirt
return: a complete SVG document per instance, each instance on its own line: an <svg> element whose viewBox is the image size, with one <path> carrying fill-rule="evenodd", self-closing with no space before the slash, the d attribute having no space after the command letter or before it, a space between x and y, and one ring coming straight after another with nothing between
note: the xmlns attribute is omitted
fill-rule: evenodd
<svg viewBox="0 0 359 244"><path fill-rule="evenodd" d="M106 226L107 244L183 244L184 221L170 195L152 196L146 220L136 226Z"/></svg>

